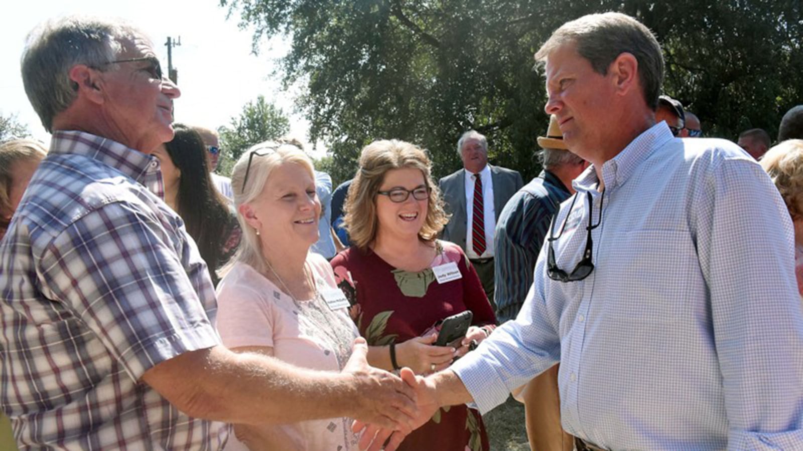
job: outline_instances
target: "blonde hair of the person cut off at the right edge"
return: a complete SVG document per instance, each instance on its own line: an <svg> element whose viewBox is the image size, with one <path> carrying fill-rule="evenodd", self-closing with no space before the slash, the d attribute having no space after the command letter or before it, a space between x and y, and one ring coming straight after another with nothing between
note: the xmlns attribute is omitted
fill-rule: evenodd
<svg viewBox="0 0 803 451"><path fill-rule="evenodd" d="M803 219L803 140L785 140L760 160L781 192L792 219Z"/></svg>

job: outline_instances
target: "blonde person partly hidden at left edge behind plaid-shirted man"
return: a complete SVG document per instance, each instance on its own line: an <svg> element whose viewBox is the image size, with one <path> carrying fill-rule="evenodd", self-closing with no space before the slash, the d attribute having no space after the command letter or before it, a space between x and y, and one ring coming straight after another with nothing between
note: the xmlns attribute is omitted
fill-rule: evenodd
<svg viewBox="0 0 803 451"><path fill-rule="evenodd" d="M10 140L0 144L0 239L6 234L22 193L45 155L47 149L35 140Z"/></svg>

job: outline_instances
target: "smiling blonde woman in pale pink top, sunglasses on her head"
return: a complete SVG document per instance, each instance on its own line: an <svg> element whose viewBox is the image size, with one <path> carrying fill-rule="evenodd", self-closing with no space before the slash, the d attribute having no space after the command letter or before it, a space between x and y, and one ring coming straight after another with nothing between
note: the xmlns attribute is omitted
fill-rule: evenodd
<svg viewBox="0 0 803 451"><path fill-rule="evenodd" d="M243 230L218 286L218 331L236 352L340 372L359 334L332 268L309 252L320 202L312 163L291 144L265 142L234 165L234 205ZM357 449L350 418L280 426L234 425L226 449Z"/></svg>

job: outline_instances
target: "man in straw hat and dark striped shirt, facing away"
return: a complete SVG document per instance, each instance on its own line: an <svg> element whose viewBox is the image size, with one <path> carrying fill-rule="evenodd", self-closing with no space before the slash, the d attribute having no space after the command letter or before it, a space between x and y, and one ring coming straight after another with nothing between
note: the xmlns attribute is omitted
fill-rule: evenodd
<svg viewBox="0 0 803 451"><path fill-rule="evenodd" d="M560 202L574 193L572 181L588 167L569 152L555 116L549 118L547 136L538 137L544 170L507 201L496 224L496 318L515 319L532 286L532 270L549 223ZM532 449L571 451L573 441L560 428L558 365L540 374L517 394L524 402L527 435Z"/></svg>

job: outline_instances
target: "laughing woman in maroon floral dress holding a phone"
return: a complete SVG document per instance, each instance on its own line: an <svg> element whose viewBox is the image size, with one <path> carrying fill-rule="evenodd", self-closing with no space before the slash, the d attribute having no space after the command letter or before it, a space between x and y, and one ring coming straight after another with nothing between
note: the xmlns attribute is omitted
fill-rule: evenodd
<svg viewBox="0 0 803 451"><path fill-rule="evenodd" d="M447 218L433 185L422 149L381 140L363 149L349 188L345 224L353 246L332 259L332 267L372 346L369 363L379 368L410 367L416 374L448 368L495 323L463 250L435 238ZM467 310L473 325L458 348L432 346L434 324ZM439 409L399 449L487 451L488 441L482 416L463 405Z"/></svg>

